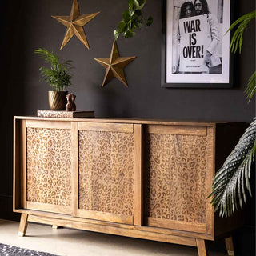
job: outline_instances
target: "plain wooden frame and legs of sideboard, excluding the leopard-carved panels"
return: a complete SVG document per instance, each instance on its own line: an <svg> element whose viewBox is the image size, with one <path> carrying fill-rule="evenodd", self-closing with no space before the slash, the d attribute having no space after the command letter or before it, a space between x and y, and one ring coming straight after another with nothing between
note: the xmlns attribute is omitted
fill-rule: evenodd
<svg viewBox="0 0 256 256"><path fill-rule="evenodd" d="M52 204L30 202L27 198L27 128L63 129L70 134L70 206L53 206ZM218 155L218 138L228 143L226 130L233 129L234 138L238 139L245 128L245 123L217 122L172 122L129 119L62 119L14 117L14 212L22 214L20 235L26 234L27 222L46 223L82 230L91 230L106 234L118 234L133 238L145 238L154 241L172 242L188 246L197 246L200 256L206 255L206 240L218 237L228 238L230 232L242 226L241 221L227 219L222 230L218 228L219 218L214 216L210 200L206 202L206 223L179 222L159 218L149 218L144 213L144 134L175 134L205 136L206 155L206 194L214 177L216 162L222 162L225 155ZM134 185L133 215L129 218L117 214L108 214L79 209L79 130L106 131L115 133L132 133L134 136ZM232 145L231 145L232 146ZM230 146L230 147L231 147ZM226 147L229 154L229 147ZM217 160L218 158L218 160ZM219 166L218 166L219 167ZM230 250L230 248L229 248Z"/></svg>

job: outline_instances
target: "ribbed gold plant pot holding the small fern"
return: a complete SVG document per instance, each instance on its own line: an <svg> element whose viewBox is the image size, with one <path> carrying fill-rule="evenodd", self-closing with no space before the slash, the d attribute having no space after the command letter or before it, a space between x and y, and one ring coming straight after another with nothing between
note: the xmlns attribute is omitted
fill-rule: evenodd
<svg viewBox="0 0 256 256"><path fill-rule="evenodd" d="M65 110L66 94L68 91L48 91L49 106L51 110Z"/></svg>

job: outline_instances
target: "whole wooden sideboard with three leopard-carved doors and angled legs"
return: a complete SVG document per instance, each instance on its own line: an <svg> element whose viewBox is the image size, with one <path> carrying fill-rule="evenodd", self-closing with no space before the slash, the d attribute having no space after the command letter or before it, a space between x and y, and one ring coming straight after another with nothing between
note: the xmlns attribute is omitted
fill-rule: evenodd
<svg viewBox="0 0 256 256"><path fill-rule="evenodd" d="M28 222L197 246L242 226L210 205L244 122L14 117L14 212ZM223 225L224 224L224 225Z"/></svg>

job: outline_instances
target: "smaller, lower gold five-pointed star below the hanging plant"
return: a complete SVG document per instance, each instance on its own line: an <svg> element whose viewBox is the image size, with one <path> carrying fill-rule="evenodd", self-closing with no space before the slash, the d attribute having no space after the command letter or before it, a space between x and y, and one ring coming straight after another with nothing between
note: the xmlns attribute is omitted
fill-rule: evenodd
<svg viewBox="0 0 256 256"><path fill-rule="evenodd" d="M118 78L120 82L122 82L126 87L128 87L126 82L126 75L123 71L126 65L132 62L136 58L134 57L119 57L118 53L118 45L114 40L112 51L110 54L110 58L94 58L96 62L101 64L106 68L106 74L104 81L102 83L102 87L105 86L112 78Z"/></svg>

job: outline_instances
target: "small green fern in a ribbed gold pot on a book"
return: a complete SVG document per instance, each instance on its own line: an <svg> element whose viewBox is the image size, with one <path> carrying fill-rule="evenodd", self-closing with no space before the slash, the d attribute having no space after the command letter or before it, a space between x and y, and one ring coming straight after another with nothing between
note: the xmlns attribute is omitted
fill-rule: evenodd
<svg viewBox="0 0 256 256"><path fill-rule="evenodd" d="M72 68L70 60L60 62L57 54L45 48L38 48L34 50L40 58L43 58L50 64L50 68L42 66L39 68L42 79L54 87L54 90L48 91L48 99L51 110L65 110L66 94L68 91L64 90L71 85L70 69Z"/></svg>

